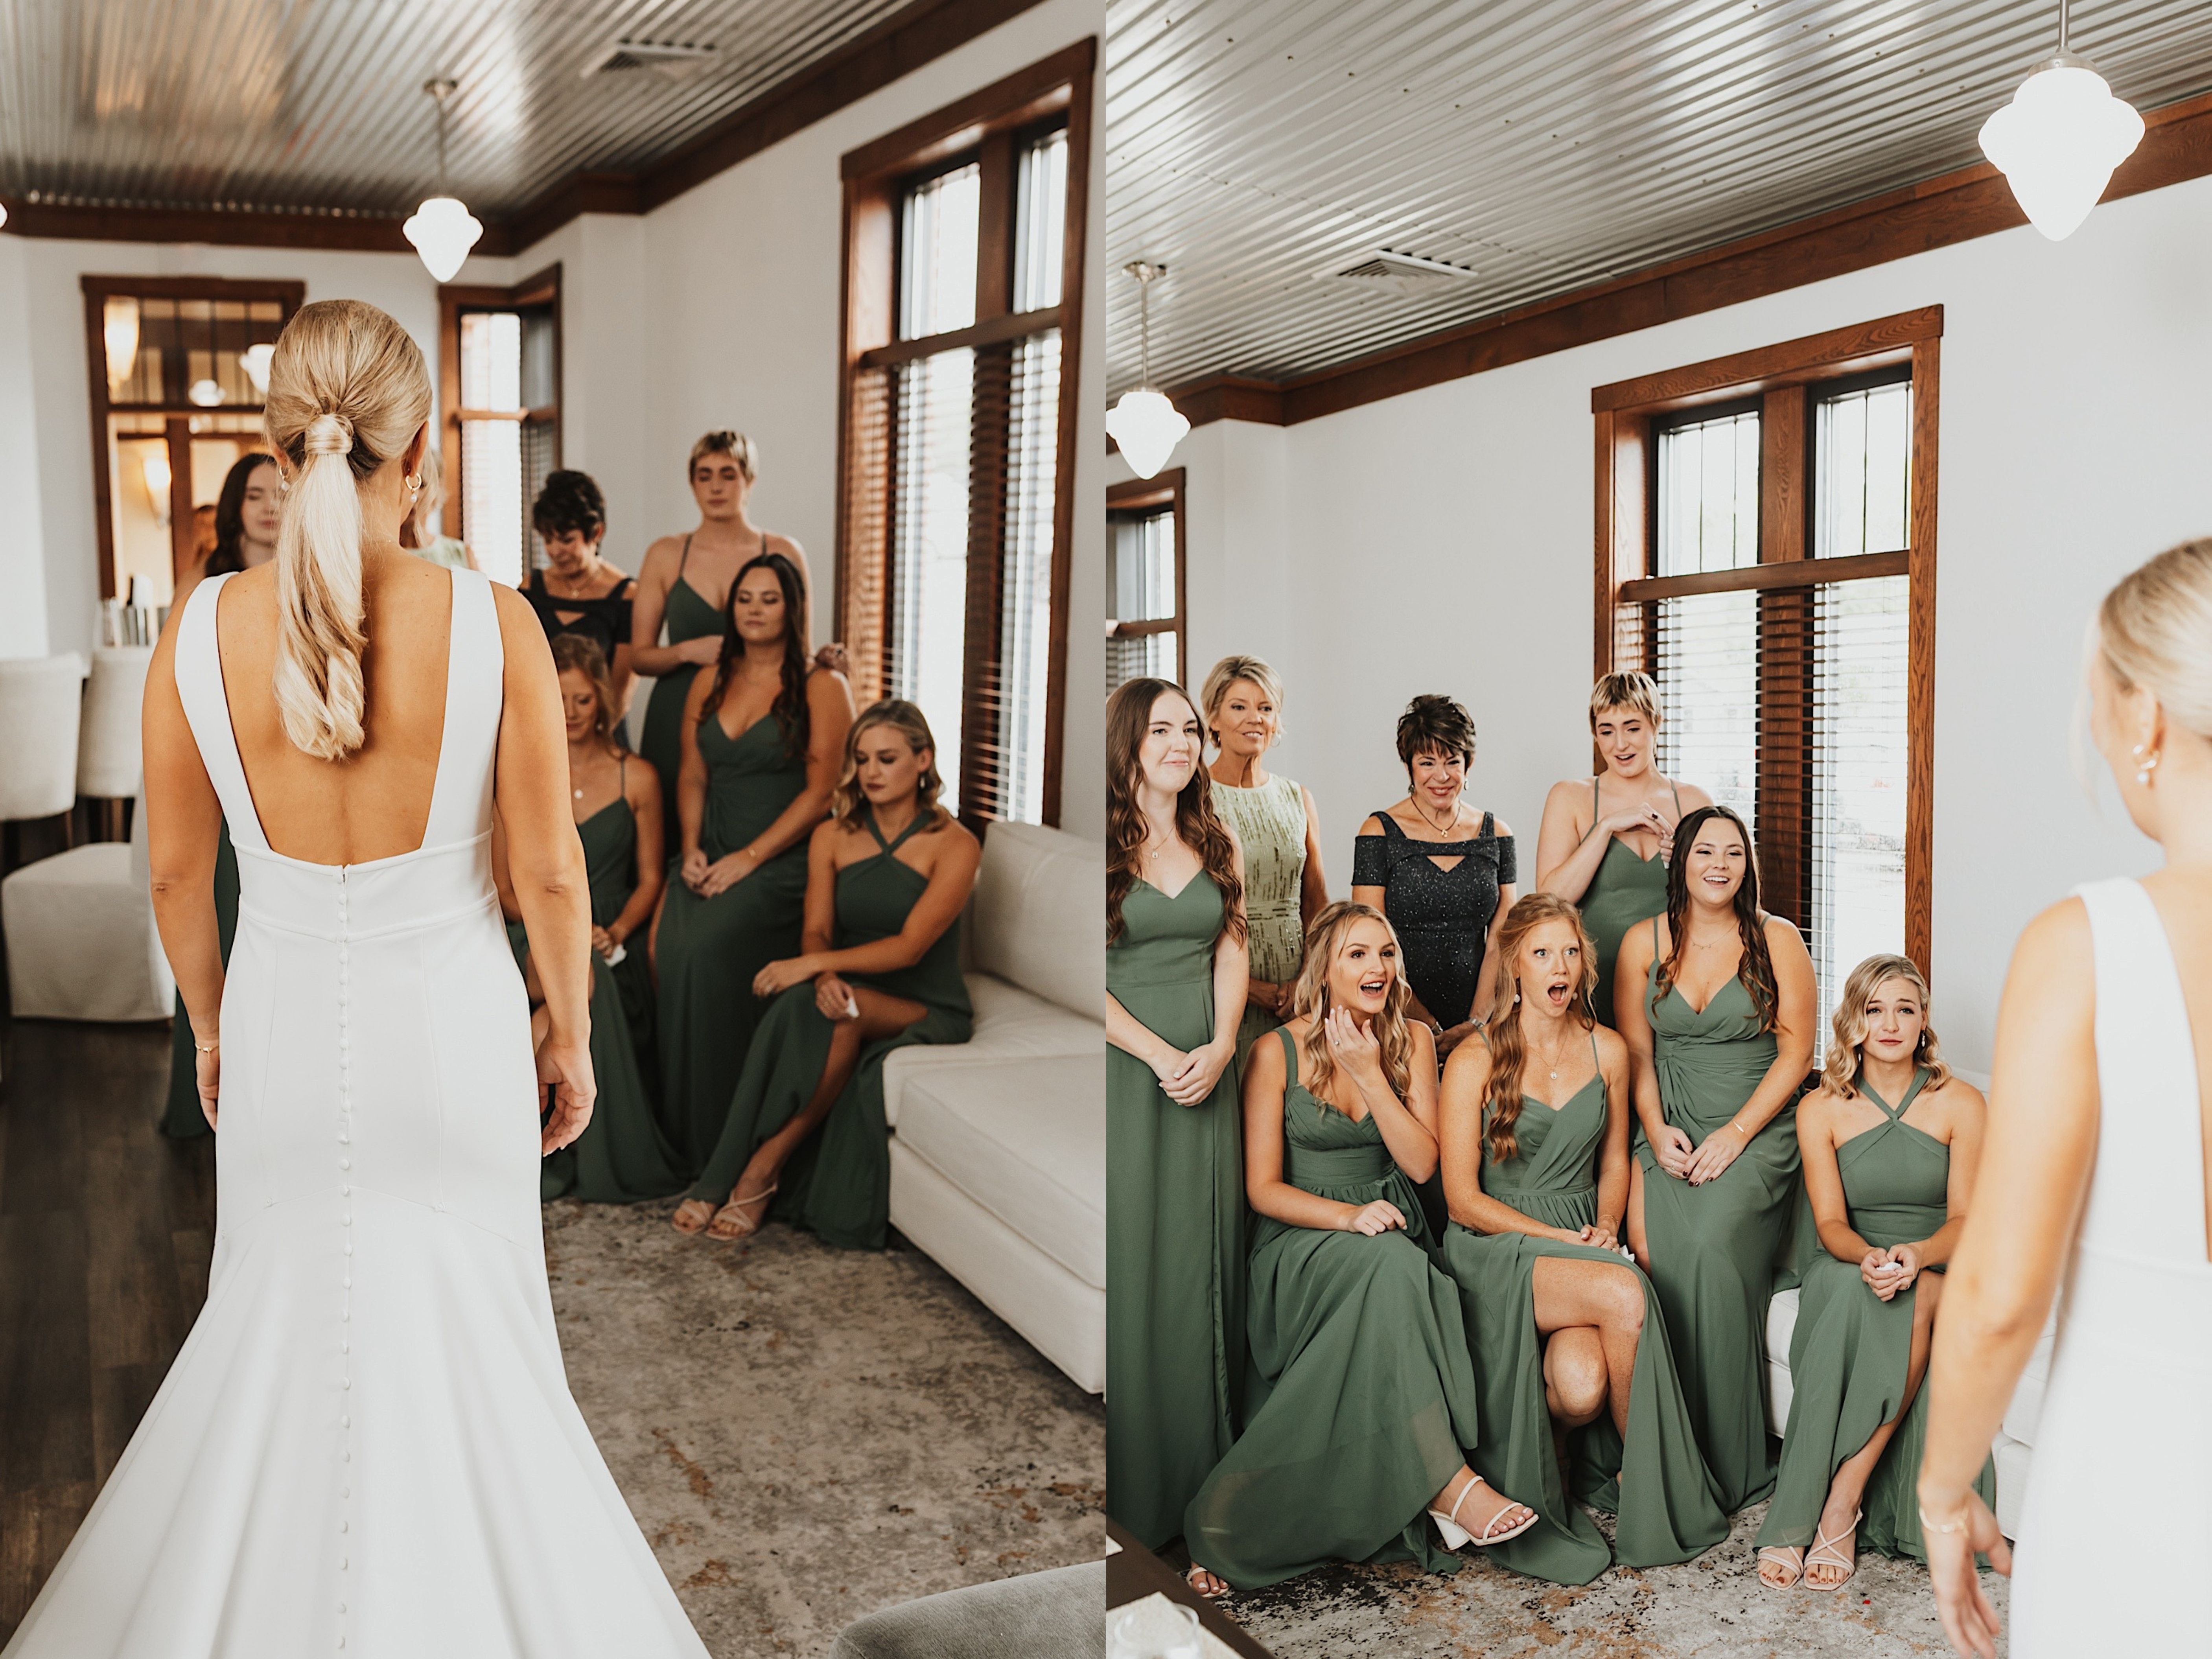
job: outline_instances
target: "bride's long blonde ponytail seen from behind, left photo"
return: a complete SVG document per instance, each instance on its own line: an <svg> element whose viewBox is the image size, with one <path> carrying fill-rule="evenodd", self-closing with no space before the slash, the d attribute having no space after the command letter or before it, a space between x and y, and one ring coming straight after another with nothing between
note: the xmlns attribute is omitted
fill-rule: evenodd
<svg viewBox="0 0 2212 1659"><path fill-rule="evenodd" d="M276 712L319 761L361 748L367 608L361 593L361 482L429 420L422 352L358 299L303 305L270 358L261 425L292 462L276 529Z"/></svg>

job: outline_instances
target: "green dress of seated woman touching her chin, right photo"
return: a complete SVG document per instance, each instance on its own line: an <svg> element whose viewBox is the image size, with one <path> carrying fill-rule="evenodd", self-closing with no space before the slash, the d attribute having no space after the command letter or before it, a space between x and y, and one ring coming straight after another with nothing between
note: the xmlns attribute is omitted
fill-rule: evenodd
<svg viewBox="0 0 2212 1659"><path fill-rule="evenodd" d="M1290 1031L1276 1040L1283 1179L1338 1203L1389 1199L1407 1230L1369 1239L1254 1223L1245 1431L1190 1500L1183 1542L1239 1590L1332 1559L1458 1573L1429 1526L1429 1502L1478 1442L1458 1290L1429 1256L1420 1199L1374 1117L1352 1121L1314 1099L1298 1084L1298 1044Z"/></svg>

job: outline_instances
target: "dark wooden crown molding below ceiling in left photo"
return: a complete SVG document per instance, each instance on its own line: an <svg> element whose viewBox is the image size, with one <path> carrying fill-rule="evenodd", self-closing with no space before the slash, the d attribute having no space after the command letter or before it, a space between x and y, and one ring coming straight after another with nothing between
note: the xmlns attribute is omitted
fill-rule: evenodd
<svg viewBox="0 0 2212 1659"><path fill-rule="evenodd" d="M675 155L637 173L580 170L522 208L484 221L476 252L500 259L586 212L641 215L739 161L964 46L1037 0L911 0L867 33L732 111ZM206 241L228 248L325 248L411 254L405 215L100 208L7 197L7 232L77 241Z"/></svg>

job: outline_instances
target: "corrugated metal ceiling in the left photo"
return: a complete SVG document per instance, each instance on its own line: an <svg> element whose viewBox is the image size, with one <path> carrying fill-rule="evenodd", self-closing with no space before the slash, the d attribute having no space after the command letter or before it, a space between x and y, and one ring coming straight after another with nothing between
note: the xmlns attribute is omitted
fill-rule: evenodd
<svg viewBox="0 0 2212 1659"><path fill-rule="evenodd" d="M0 195L407 212L436 175L507 215L641 168L905 0L0 0ZM617 38L712 44L686 80L584 77Z"/></svg>

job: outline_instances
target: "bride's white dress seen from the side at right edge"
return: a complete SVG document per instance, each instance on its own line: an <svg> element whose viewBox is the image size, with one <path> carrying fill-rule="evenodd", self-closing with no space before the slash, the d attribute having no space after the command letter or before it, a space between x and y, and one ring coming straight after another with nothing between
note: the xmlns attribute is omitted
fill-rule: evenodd
<svg viewBox="0 0 2212 1659"><path fill-rule="evenodd" d="M2013 1564L2013 1659L2212 1644L2212 1263L2181 975L2135 880L2077 889L2097 973L2097 1168Z"/></svg>

